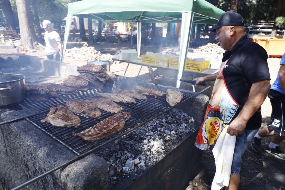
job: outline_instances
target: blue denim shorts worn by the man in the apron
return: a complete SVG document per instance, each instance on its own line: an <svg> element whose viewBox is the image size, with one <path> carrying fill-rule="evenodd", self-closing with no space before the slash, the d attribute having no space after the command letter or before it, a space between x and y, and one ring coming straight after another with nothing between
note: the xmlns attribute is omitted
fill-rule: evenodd
<svg viewBox="0 0 285 190"><path fill-rule="evenodd" d="M235 141L235 151L233 153L233 163L231 166L231 175L237 175L239 174L241 170L241 156L249 146L249 143L257 133L257 129L251 129L247 130L245 129L242 134L237 136L237 139Z"/></svg>

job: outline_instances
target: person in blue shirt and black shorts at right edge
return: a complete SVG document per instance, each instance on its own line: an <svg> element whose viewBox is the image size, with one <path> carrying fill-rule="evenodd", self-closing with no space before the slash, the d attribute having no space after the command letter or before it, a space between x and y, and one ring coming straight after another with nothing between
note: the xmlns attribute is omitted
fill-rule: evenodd
<svg viewBox="0 0 285 190"><path fill-rule="evenodd" d="M273 136L266 147L266 152L274 157L285 160L285 154L279 149L279 144L285 139L285 53L280 61L280 69L274 83L271 85L268 97L272 105L271 121L264 128L260 129L251 142L255 152L260 153L261 140L266 136Z"/></svg>

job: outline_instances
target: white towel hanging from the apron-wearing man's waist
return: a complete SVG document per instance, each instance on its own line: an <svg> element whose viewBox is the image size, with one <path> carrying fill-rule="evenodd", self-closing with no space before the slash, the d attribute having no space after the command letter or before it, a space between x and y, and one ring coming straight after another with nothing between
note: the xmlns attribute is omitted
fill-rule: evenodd
<svg viewBox="0 0 285 190"><path fill-rule="evenodd" d="M237 136L229 135L227 128L228 125L222 130L213 148L216 173L211 187L212 190L220 190L224 186L229 186L233 152L235 150L235 140Z"/></svg>

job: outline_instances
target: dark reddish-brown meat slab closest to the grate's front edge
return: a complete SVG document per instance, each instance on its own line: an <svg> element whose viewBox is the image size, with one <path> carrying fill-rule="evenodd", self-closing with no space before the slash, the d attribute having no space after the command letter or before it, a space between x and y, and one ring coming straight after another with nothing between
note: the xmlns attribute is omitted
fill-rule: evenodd
<svg viewBox="0 0 285 190"><path fill-rule="evenodd" d="M101 140L103 138L107 138L112 134L120 131L125 122L131 117L131 113L129 112L120 112L115 115L112 115L103 121L100 121L96 125L87 128L86 130L76 133L72 132L75 136L80 136L84 140L94 142L97 140Z"/></svg>

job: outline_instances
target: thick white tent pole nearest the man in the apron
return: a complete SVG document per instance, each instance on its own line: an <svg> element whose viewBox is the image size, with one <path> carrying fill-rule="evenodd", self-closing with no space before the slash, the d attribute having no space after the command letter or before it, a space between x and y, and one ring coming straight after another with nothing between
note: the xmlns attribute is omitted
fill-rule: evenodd
<svg viewBox="0 0 285 190"><path fill-rule="evenodd" d="M176 88L180 87L179 79L182 78L184 65L186 61L186 56L188 52L191 30L193 26L194 13L182 13L182 22L181 22L181 40L180 40L180 54L179 54L179 64L178 64L178 73L177 73L177 82Z"/></svg>

